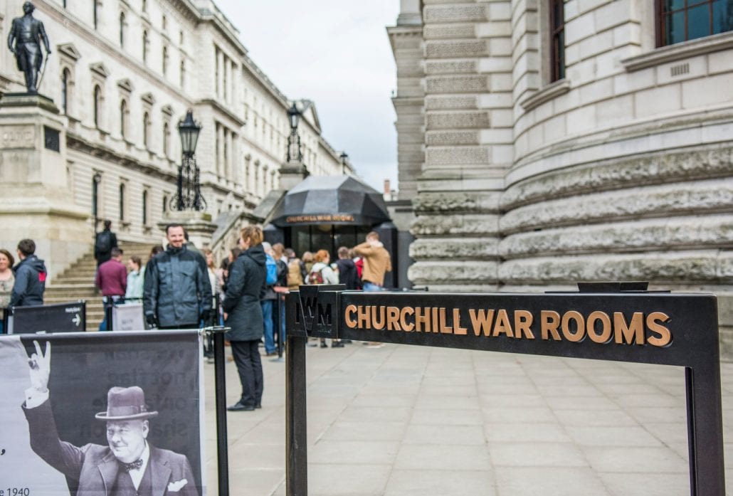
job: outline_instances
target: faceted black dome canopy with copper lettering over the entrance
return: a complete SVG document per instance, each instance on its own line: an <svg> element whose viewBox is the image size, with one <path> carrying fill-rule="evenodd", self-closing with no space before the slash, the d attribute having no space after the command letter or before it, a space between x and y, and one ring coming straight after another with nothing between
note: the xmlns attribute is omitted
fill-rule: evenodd
<svg viewBox="0 0 733 496"><path fill-rule="evenodd" d="M310 176L284 196L271 222L374 226L389 221L382 195L351 176Z"/></svg>

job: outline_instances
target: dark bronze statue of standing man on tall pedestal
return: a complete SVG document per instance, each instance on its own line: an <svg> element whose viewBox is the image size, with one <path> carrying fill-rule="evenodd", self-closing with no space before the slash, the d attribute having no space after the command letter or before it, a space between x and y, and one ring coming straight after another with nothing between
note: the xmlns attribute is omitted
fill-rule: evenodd
<svg viewBox="0 0 733 496"><path fill-rule="evenodd" d="M43 51L41 41L45 46L46 56L51 54L48 46L48 37L45 34L43 23L33 17L33 4L29 1L23 4L22 18L12 20L10 34L7 36L7 46L15 55L18 63L18 70L23 71L26 76L26 89L29 93L38 92L38 72L43 63ZM15 45L13 45L15 42ZM45 68L45 67L44 67Z"/></svg>

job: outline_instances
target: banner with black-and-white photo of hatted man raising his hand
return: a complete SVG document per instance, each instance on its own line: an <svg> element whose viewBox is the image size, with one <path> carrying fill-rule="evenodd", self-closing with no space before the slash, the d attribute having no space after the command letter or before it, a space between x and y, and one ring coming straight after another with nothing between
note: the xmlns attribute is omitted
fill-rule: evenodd
<svg viewBox="0 0 733 496"><path fill-rule="evenodd" d="M196 333L0 337L0 495L205 494Z"/></svg>

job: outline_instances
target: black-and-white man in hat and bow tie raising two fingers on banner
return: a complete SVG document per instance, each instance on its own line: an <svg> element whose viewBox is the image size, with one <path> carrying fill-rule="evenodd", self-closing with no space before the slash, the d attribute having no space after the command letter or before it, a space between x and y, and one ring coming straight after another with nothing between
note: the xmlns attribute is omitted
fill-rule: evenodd
<svg viewBox="0 0 733 496"><path fill-rule="evenodd" d="M145 404L138 386L111 388L107 410L95 418L107 423L107 446L78 447L59 440L48 400L51 344L45 354L38 341L29 360L31 387L26 389L23 412L28 421L31 448L46 463L74 481L85 496L198 496L188 459L147 443L148 419L158 415Z"/></svg>

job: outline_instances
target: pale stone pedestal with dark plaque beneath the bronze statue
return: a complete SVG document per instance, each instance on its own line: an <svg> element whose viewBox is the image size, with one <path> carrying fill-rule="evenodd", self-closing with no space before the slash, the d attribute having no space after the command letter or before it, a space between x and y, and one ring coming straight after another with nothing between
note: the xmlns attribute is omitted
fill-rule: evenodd
<svg viewBox="0 0 733 496"><path fill-rule="evenodd" d="M49 278L89 252L94 229L67 185L66 117L43 95L0 99L0 246L30 238Z"/></svg>

